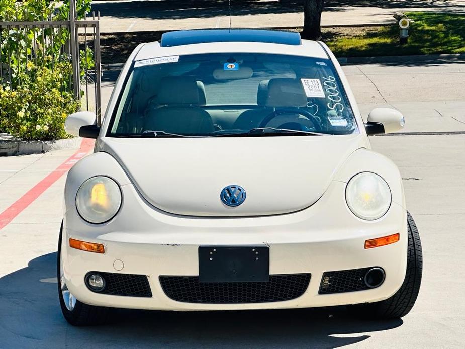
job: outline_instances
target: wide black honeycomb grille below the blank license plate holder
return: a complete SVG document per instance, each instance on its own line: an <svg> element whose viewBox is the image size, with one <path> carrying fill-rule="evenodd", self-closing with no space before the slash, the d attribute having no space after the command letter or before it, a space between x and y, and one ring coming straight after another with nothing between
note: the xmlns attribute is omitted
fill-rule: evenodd
<svg viewBox="0 0 465 349"><path fill-rule="evenodd" d="M304 294L310 274L270 275L268 282L199 282L198 276L160 276L164 293L187 303L240 304L280 302Z"/></svg>

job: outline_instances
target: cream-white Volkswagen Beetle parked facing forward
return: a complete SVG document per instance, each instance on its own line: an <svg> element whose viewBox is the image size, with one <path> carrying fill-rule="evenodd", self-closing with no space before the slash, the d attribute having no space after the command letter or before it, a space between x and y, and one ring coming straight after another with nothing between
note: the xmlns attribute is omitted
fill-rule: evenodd
<svg viewBox="0 0 465 349"><path fill-rule="evenodd" d="M368 135L322 42L265 30L166 33L124 65L96 138L69 171L59 300L73 325L110 308L348 305L401 317L421 281L417 228L396 165Z"/></svg>

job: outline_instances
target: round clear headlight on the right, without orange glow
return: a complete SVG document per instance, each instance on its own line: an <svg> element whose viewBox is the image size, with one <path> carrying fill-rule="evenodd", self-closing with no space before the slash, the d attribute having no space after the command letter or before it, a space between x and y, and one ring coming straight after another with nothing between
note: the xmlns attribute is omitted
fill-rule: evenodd
<svg viewBox="0 0 465 349"><path fill-rule="evenodd" d="M382 177L372 172L362 172L347 183L345 200L355 216L371 221L388 212L391 190Z"/></svg>

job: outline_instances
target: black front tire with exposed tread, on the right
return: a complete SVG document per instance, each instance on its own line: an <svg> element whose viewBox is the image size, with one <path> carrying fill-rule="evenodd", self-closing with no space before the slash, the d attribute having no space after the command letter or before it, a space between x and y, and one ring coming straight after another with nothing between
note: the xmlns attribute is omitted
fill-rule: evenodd
<svg viewBox="0 0 465 349"><path fill-rule="evenodd" d="M371 319L392 319L403 317L412 309L420 291L423 256L420 234L415 221L408 212L407 226L407 270L401 288L384 301L348 306L353 314Z"/></svg>

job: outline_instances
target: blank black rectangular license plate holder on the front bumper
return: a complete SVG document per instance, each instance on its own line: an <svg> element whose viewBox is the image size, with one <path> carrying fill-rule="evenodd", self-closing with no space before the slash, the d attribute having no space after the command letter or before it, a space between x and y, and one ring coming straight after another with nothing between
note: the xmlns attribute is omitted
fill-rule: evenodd
<svg viewBox="0 0 465 349"><path fill-rule="evenodd" d="M268 246L199 246L200 282L269 281Z"/></svg>

